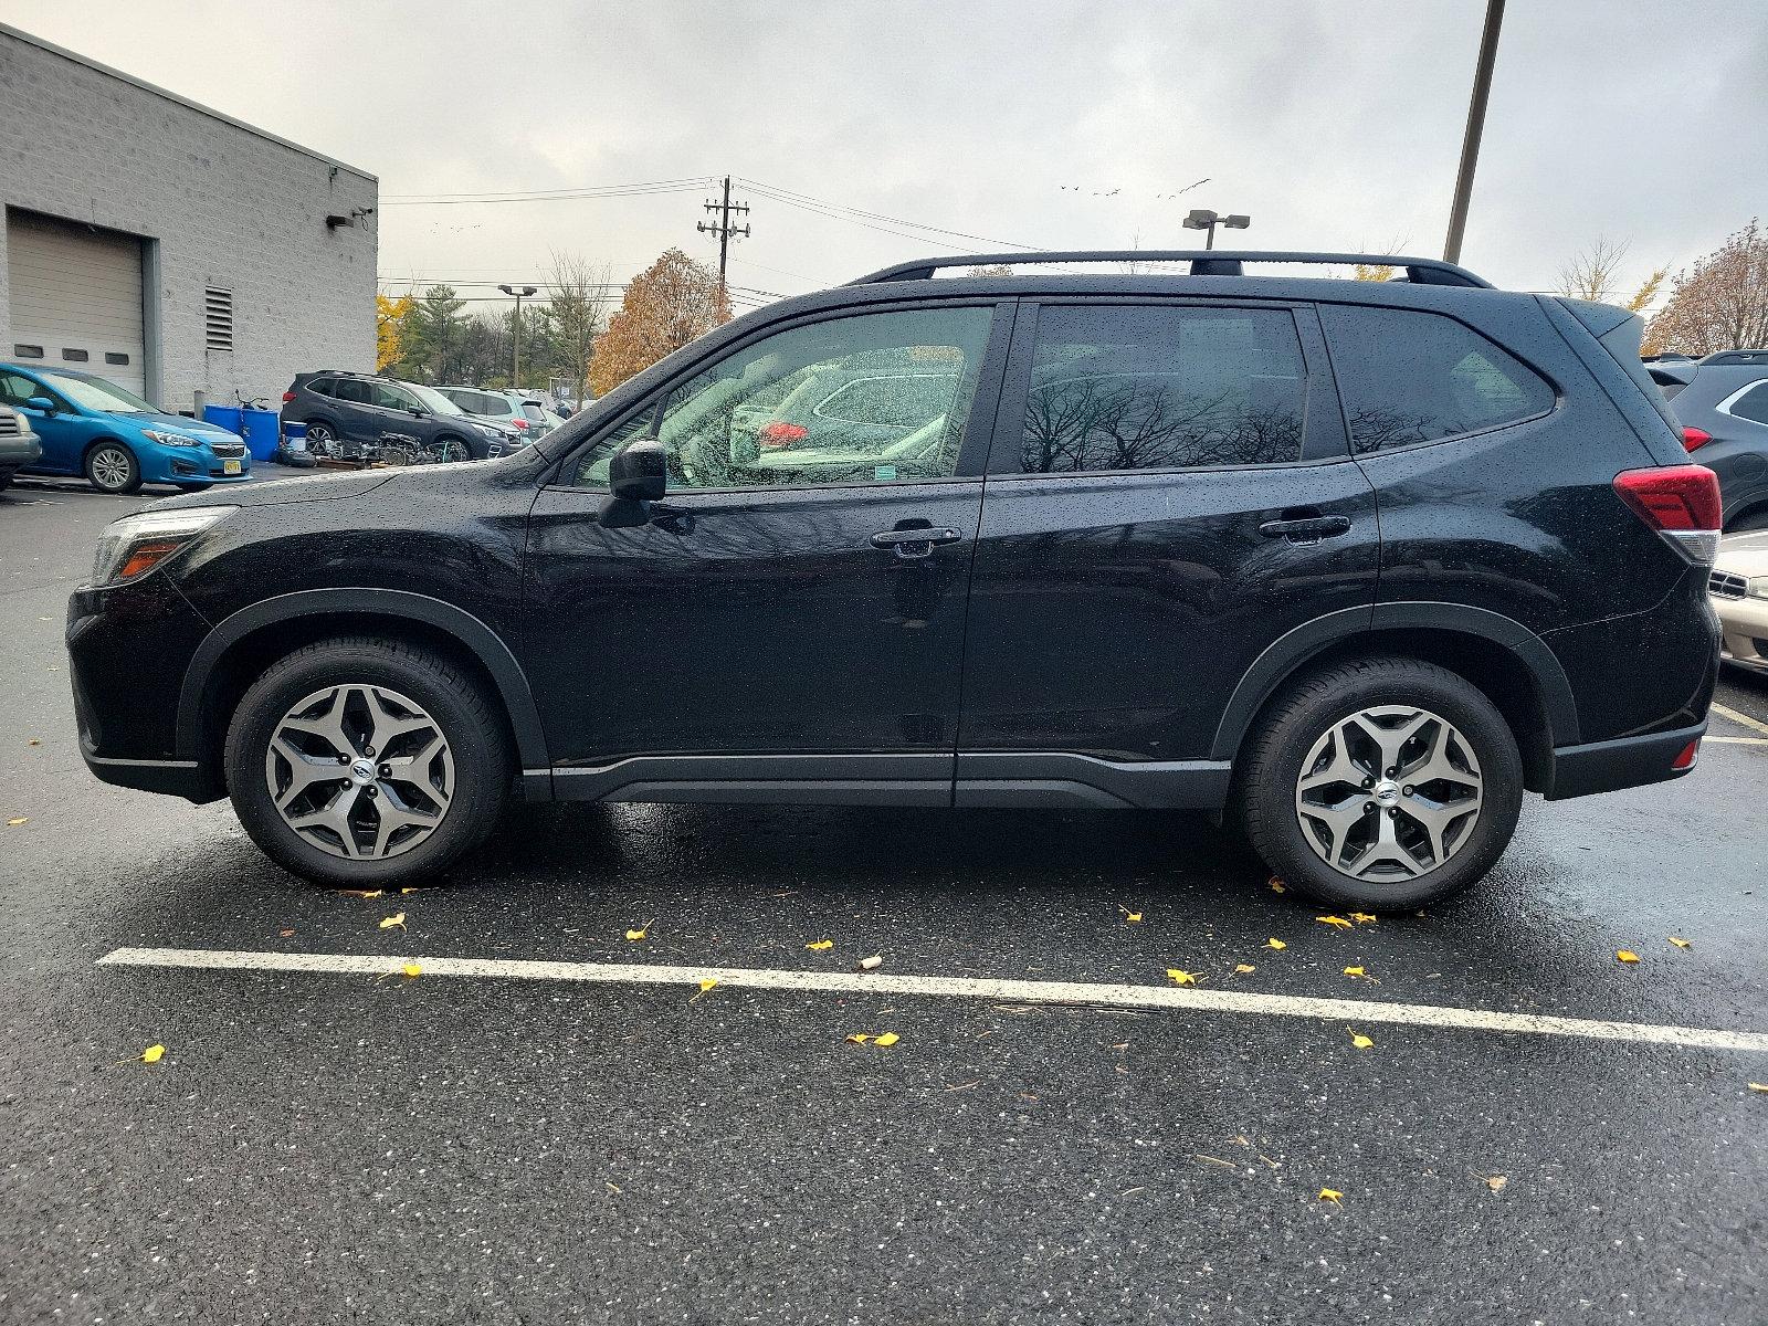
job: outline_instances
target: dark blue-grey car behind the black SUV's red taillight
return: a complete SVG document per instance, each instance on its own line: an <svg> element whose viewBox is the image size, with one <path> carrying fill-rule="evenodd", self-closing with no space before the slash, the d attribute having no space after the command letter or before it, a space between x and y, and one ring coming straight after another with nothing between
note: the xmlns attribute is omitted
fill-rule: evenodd
<svg viewBox="0 0 1768 1326"><path fill-rule="evenodd" d="M1646 370L1718 476L1727 532L1768 529L1768 350L1722 350Z"/></svg>

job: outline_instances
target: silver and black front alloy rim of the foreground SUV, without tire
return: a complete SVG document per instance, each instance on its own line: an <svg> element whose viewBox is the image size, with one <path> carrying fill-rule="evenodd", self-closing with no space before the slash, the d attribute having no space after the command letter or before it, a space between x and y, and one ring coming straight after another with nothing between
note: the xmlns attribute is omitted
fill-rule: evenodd
<svg viewBox="0 0 1768 1326"><path fill-rule="evenodd" d="M387 686L327 686L292 705L271 730L263 776L295 834L350 861L412 850L454 797L442 727Z"/></svg>

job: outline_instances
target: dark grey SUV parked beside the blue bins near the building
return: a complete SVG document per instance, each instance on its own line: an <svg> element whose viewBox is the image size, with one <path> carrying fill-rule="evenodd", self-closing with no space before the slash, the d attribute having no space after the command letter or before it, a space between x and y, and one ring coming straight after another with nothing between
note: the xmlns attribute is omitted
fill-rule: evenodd
<svg viewBox="0 0 1768 1326"><path fill-rule="evenodd" d="M389 438L460 460L502 456L504 431L476 419L440 391L421 382L373 373L295 373L283 392L283 423L308 426L308 451L316 456L361 456Z"/></svg>

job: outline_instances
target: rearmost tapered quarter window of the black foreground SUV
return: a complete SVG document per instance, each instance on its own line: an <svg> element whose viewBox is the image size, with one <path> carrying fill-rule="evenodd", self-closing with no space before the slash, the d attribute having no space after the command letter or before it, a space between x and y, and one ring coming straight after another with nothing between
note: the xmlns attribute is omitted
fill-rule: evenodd
<svg viewBox="0 0 1768 1326"><path fill-rule="evenodd" d="M1453 318L1345 304L1319 313L1356 451L1437 442L1552 408L1545 378Z"/></svg>

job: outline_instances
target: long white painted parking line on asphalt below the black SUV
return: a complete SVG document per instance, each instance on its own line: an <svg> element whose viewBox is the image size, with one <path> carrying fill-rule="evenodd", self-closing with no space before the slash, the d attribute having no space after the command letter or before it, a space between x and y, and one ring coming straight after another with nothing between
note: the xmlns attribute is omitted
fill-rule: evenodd
<svg viewBox="0 0 1768 1326"><path fill-rule="evenodd" d="M1386 1004L1363 999L1312 999L1250 990L1195 990L1163 985L1096 985L1091 981L992 981L969 976L893 976L884 972L769 971L751 967L661 967L635 962L520 962L509 958L352 956L345 953L256 953L203 948L120 948L99 958L110 967L202 967L214 971L286 971L341 976L385 976L417 962L424 978L469 976L518 981L598 981L679 985L700 981L748 990L813 994L942 995L1006 1004L1107 1004L1172 1008L1197 1013L1266 1013L1333 1022L1400 1022L1460 1031L1520 1031L1536 1036L1588 1036L1704 1050L1768 1052L1768 1033L1658 1027L1642 1022L1595 1022L1536 1013L1489 1013L1478 1008Z"/></svg>

